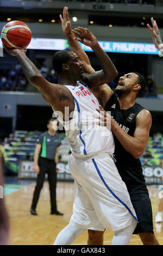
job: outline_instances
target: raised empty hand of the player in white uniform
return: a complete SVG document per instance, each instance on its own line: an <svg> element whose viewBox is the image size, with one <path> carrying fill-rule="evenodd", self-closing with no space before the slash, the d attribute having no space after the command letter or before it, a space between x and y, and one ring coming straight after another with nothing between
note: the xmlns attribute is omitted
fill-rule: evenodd
<svg viewBox="0 0 163 256"><path fill-rule="evenodd" d="M82 44L90 46L91 48L97 45L96 37L87 28L78 27L72 30L72 32L78 36L76 40L82 42Z"/></svg>

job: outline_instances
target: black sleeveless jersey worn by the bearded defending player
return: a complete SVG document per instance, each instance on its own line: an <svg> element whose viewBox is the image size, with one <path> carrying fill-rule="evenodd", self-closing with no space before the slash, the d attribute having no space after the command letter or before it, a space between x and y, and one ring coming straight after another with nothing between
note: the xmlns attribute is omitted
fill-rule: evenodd
<svg viewBox="0 0 163 256"><path fill-rule="evenodd" d="M111 117L114 118L116 123L128 133L130 136L134 136L136 127L136 117L139 112L144 109L141 105L135 102L134 106L128 109L121 109L117 100L117 95L113 94L105 105L105 111L111 112ZM140 193L142 190L147 192L145 185L145 178L143 176L143 170L139 159L135 159L129 154L114 136L115 141L115 159L116 167L120 173L122 180L126 183L128 191L133 195ZM131 194L130 194L131 196Z"/></svg>

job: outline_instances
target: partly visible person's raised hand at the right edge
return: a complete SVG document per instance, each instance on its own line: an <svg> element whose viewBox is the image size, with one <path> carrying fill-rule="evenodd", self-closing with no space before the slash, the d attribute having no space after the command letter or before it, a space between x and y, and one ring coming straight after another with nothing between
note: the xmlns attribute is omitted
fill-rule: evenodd
<svg viewBox="0 0 163 256"><path fill-rule="evenodd" d="M153 18L151 18L151 22L152 22L153 28L149 24L147 24L147 28L149 29L149 31L151 31L152 40L153 40L153 43L154 43L155 47L158 50L161 50L161 49L163 49L163 47L161 46L162 45L162 40L161 40L161 35L160 35L160 32L159 32L158 25L157 25L156 21Z"/></svg>

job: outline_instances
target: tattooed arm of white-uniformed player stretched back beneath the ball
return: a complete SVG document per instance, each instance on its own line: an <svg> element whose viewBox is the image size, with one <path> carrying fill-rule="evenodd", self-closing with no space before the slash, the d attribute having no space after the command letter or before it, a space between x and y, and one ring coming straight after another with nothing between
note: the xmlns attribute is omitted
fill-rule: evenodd
<svg viewBox="0 0 163 256"><path fill-rule="evenodd" d="M74 110L74 101L69 90L59 84L48 82L40 74L39 70L30 61L30 59L28 59L26 56L26 49L14 48L9 50L4 45L3 47L9 54L17 57L28 81L39 90L43 98L52 106L53 109L61 111L63 115L65 113L65 106L70 107L70 111Z"/></svg>

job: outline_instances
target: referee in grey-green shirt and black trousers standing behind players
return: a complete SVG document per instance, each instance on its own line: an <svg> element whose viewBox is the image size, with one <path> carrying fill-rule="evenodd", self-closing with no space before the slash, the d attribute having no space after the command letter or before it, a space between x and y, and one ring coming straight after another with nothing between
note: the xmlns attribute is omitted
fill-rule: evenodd
<svg viewBox="0 0 163 256"><path fill-rule="evenodd" d="M34 172L37 173L37 180L30 212L32 215L37 215L36 205L39 200L45 174L47 173L51 196L51 214L63 215L57 210L56 202L56 164L58 163L59 159L58 153L60 145L60 137L55 133L57 130L57 119L49 119L47 122L47 128L48 131L42 133L40 138L37 139L37 144L35 147Z"/></svg>

